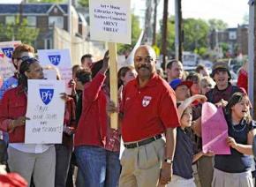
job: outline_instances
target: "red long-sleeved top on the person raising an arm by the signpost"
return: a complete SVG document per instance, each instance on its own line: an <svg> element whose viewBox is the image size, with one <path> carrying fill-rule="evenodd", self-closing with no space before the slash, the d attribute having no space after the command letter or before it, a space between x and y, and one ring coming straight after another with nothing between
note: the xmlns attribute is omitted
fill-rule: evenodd
<svg viewBox="0 0 256 187"><path fill-rule="evenodd" d="M106 76L98 73L85 85L83 108L74 138L75 146L105 146L107 135L106 95L102 90Z"/></svg>

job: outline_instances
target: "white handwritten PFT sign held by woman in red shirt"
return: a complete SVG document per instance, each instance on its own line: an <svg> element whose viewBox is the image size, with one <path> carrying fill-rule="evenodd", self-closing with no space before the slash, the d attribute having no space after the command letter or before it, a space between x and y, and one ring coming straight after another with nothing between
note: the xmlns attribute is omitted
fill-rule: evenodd
<svg viewBox="0 0 256 187"><path fill-rule="evenodd" d="M60 144L64 126L62 80L28 80L26 144Z"/></svg>

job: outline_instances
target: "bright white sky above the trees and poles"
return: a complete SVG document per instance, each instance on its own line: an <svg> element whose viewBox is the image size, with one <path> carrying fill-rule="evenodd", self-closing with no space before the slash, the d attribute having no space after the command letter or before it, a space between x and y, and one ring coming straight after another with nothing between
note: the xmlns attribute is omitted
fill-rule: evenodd
<svg viewBox="0 0 256 187"><path fill-rule="evenodd" d="M152 0L154 1L154 0ZM159 0L157 19L162 19L163 0ZM146 0L131 0L132 10L141 20ZM0 0L0 4L20 3L20 0ZM222 19L229 27L242 24L249 13L248 0L182 0L183 18ZM174 15L174 0L169 0L169 15Z"/></svg>

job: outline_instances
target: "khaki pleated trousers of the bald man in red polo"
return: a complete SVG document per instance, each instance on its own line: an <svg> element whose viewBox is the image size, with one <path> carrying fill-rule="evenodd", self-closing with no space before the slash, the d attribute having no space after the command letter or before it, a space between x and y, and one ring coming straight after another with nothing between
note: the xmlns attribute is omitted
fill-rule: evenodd
<svg viewBox="0 0 256 187"><path fill-rule="evenodd" d="M121 158L120 187L155 187L160 176L165 142L162 138L132 149L124 149Z"/></svg>

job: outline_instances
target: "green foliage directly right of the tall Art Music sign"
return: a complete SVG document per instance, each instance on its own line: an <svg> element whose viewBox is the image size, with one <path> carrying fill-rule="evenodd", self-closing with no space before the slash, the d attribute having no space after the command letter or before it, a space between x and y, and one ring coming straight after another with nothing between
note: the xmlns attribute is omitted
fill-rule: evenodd
<svg viewBox="0 0 256 187"><path fill-rule="evenodd" d="M132 14L132 45L117 44L117 53L124 54L125 51L132 50L139 39L140 32L141 32L141 29L139 26L139 17Z"/></svg>

